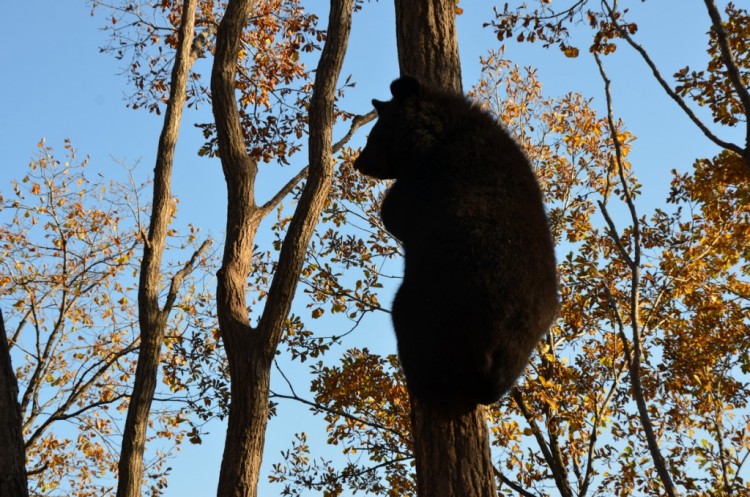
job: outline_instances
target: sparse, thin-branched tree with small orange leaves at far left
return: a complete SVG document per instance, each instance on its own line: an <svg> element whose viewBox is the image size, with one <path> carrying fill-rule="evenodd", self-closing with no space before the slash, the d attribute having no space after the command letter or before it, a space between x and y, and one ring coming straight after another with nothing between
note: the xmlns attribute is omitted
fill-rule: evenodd
<svg viewBox="0 0 750 497"><path fill-rule="evenodd" d="M89 411L123 395L129 365L121 357L131 350L134 317L114 279L128 269L118 259L130 256L135 234L118 223L126 199L100 197L102 185L86 175L88 159L76 163L67 141L65 149L66 159L57 160L41 141L14 184L16 199L2 201L0 296L15 303L5 314L11 347L33 351L17 364L29 467L41 468L32 479L39 488L93 496L103 491L92 478L111 470L114 455L103 453L97 437L109 432ZM102 320L107 313L111 321ZM50 435L61 419L80 428L70 431L79 442ZM63 476L85 483L70 486Z"/></svg>

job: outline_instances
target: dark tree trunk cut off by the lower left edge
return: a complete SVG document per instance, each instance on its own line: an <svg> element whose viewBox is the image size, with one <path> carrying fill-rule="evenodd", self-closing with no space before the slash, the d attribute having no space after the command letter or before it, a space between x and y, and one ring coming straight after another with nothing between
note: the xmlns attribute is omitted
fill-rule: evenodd
<svg viewBox="0 0 750 497"><path fill-rule="evenodd" d="M18 382L0 311L0 497L28 497Z"/></svg>

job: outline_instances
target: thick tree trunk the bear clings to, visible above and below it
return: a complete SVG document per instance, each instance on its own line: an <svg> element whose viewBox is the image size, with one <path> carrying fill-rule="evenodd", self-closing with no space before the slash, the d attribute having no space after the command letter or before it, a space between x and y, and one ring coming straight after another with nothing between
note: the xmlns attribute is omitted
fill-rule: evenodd
<svg viewBox="0 0 750 497"><path fill-rule="evenodd" d="M395 0L401 74L462 91L453 0ZM440 409L412 399L412 433L421 497L495 497L484 408Z"/></svg>

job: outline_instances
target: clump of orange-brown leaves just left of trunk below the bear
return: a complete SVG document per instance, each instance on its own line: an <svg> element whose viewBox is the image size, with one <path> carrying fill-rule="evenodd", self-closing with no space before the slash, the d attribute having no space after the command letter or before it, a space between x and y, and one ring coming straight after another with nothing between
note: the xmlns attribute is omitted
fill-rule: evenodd
<svg viewBox="0 0 750 497"><path fill-rule="evenodd" d="M271 479L290 493L312 487L324 495L339 495L345 485L382 495L413 495L408 399L395 357L384 359L367 349L347 351L338 366L314 366L311 390L324 413L328 444L343 454L374 464L361 471L357 462L341 469L309 457L306 436L298 434L292 449L282 453L284 464L273 467ZM320 477L311 479L313 474ZM384 483L389 486L385 487Z"/></svg>

